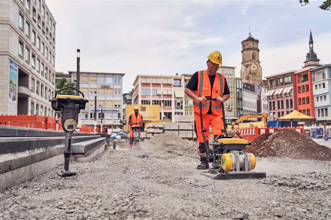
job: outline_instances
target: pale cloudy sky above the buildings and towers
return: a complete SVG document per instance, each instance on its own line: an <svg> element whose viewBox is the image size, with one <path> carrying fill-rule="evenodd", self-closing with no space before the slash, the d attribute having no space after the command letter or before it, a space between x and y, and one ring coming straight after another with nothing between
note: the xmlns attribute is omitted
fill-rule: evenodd
<svg viewBox="0 0 331 220"><path fill-rule="evenodd" d="M46 4L56 21L57 72L125 73L124 92L137 74L193 74L218 50L240 76L241 41L260 41L262 75L302 68L309 52L331 61L330 11L322 1L59 1Z"/></svg>

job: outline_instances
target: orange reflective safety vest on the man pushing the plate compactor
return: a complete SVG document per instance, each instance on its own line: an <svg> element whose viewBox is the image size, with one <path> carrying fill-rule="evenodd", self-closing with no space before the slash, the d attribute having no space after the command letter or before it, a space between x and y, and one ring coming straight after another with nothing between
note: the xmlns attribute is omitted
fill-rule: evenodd
<svg viewBox="0 0 331 220"><path fill-rule="evenodd" d="M198 71L198 90L193 92L199 97L206 97L211 94L212 98L217 98L218 96L222 97L224 93L224 81L224 75L221 73L216 73L212 89L207 70ZM202 113L206 114L209 110L210 101L201 104ZM193 110L194 112L200 113L199 102L196 100L193 100ZM212 101L212 112L214 115L222 115L222 104L217 101Z"/></svg>

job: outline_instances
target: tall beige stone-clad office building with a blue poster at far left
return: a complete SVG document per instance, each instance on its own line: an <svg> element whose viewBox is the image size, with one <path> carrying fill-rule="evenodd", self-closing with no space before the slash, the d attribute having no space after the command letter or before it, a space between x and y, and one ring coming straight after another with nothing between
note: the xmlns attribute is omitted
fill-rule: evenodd
<svg viewBox="0 0 331 220"><path fill-rule="evenodd" d="M0 8L0 114L54 115L52 13L43 0L2 0Z"/></svg>

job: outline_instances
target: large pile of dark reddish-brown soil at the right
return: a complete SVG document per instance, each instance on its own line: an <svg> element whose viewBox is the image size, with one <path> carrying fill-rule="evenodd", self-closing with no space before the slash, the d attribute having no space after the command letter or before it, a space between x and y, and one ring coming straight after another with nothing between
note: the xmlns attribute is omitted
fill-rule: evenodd
<svg viewBox="0 0 331 220"><path fill-rule="evenodd" d="M246 152L257 157L331 160L331 149L317 144L293 129L280 129L262 134L247 146Z"/></svg>

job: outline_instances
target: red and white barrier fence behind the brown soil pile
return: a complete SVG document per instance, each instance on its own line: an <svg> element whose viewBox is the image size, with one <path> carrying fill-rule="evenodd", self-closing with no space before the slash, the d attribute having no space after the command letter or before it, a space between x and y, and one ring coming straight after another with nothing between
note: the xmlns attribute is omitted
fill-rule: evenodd
<svg viewBox="0 0 331 220"><path fill-rule="evenodd" d="M247 141L251 142L257 137L259 137L261 134L264 133L274 133L275 131L279 129L294 129L300 134L305 134L304 127L282 127L282 128L258 128L257 126L254 127L248 127L248 128L241 128L240 129L240 136L243 139L246 139Z"/></svg>

